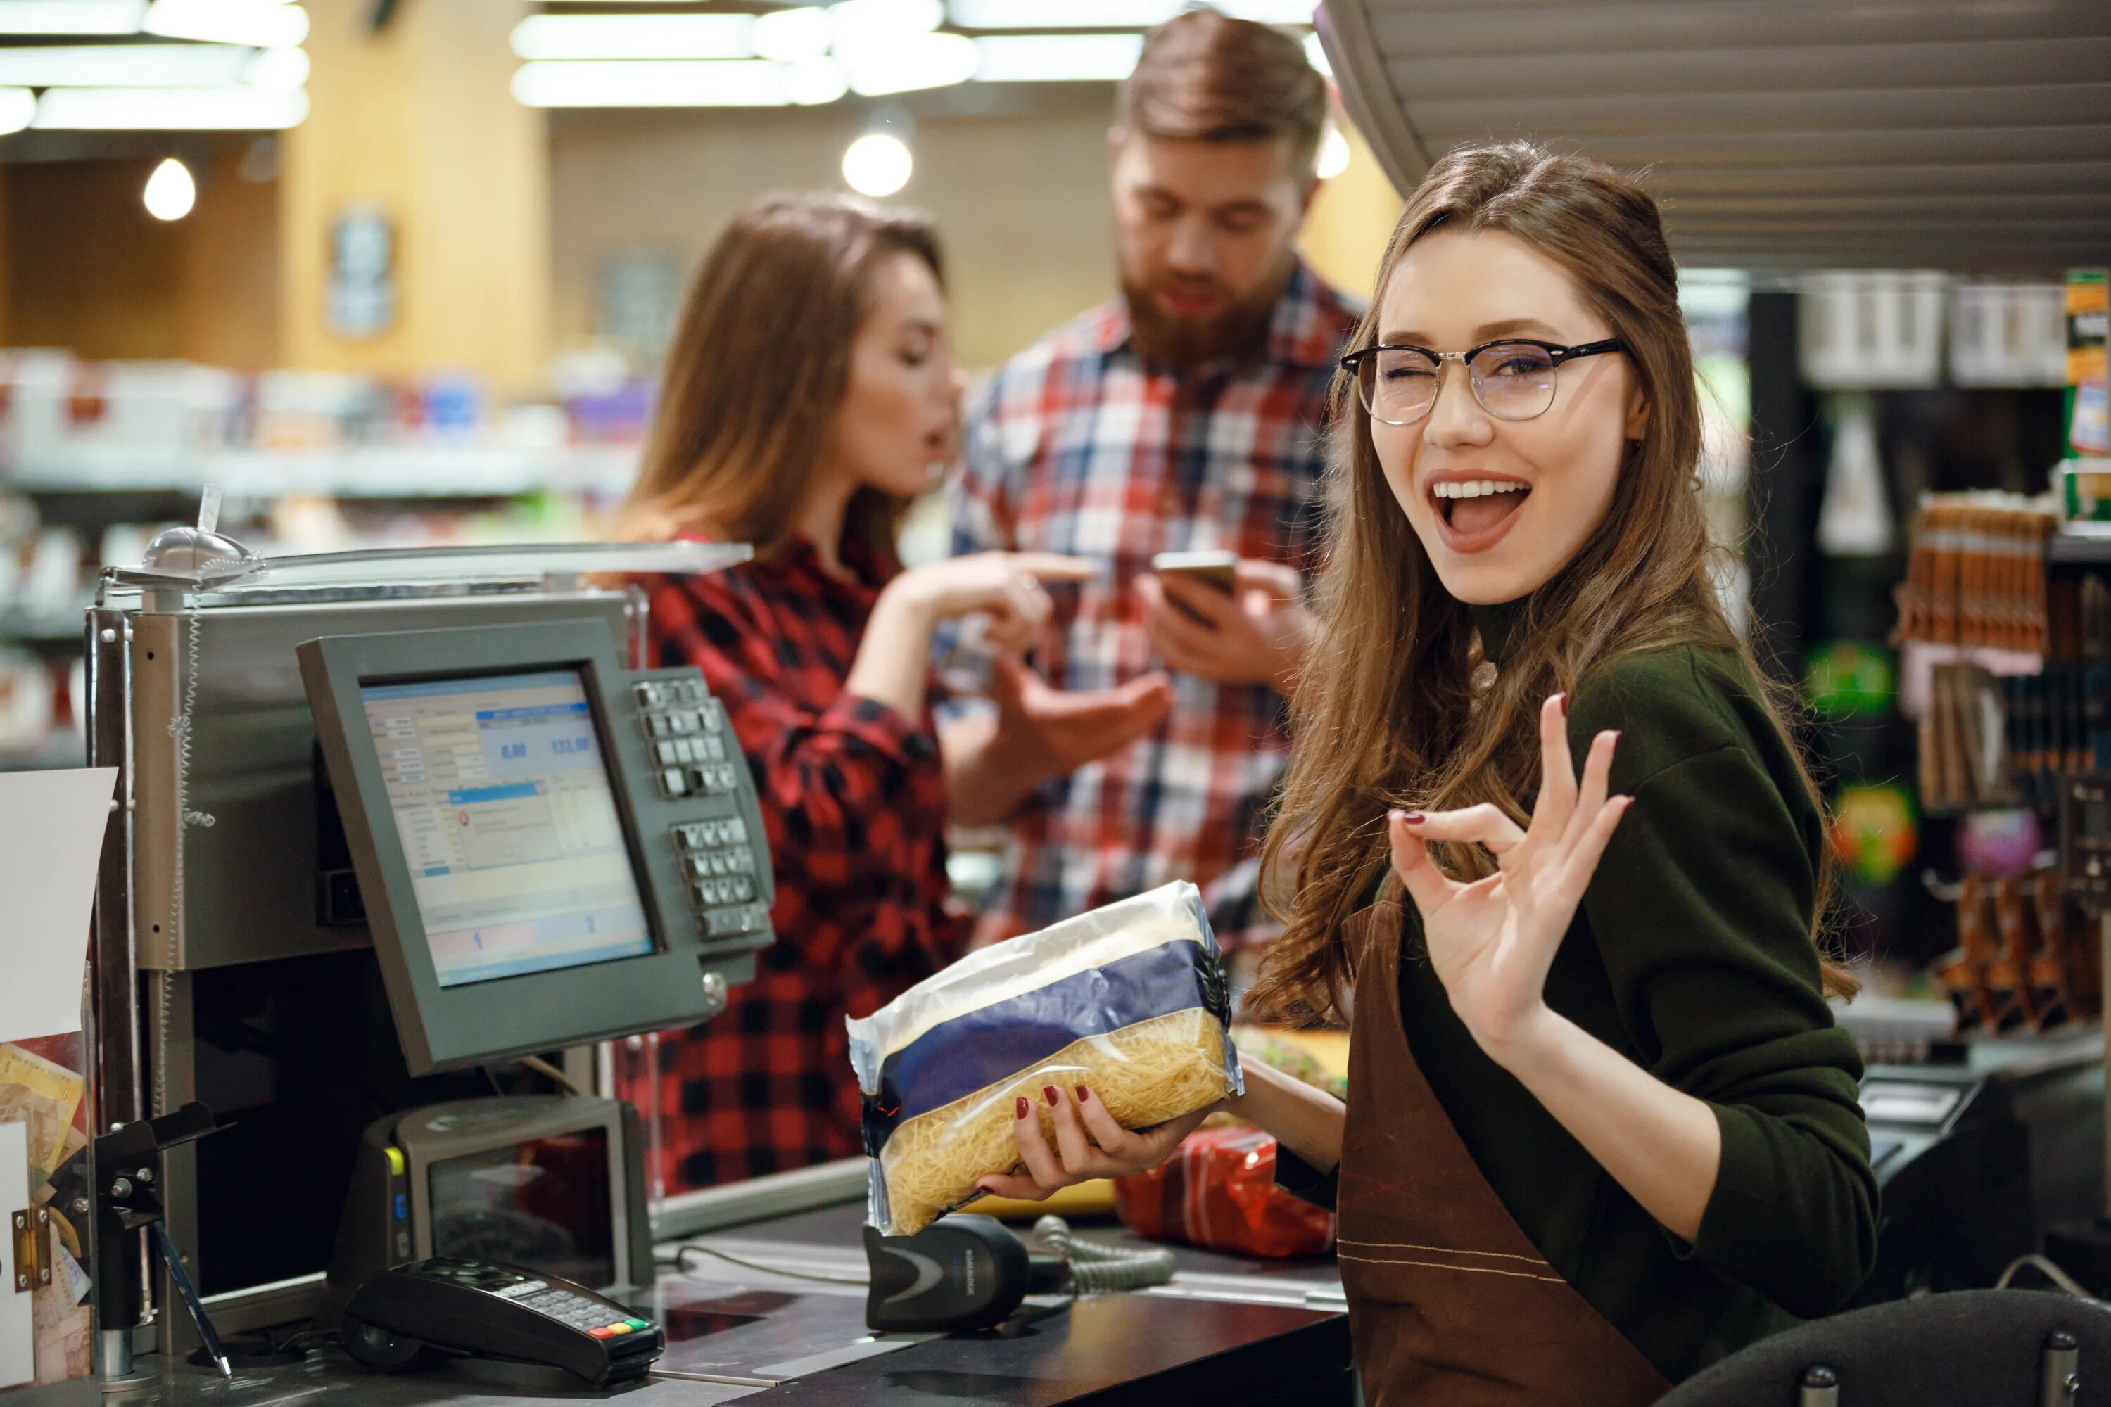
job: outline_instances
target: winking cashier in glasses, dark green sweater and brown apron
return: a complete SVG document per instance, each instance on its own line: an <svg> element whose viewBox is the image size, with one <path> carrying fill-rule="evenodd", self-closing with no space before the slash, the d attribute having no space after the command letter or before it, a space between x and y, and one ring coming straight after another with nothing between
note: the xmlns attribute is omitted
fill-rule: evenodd
<svg viewBox="0 0 2111 1407"><path fill-rule="evenodd" d="M1349 1023L1349 1099L1250 1065L1229 1107L1340 1213L1374 1405L1649 1403L1839 1308L1877 1240L1824 812L1710 580L1657 207L1452 152L1351 348L1267 852L1286 932L1245 1006ZM1197 1122L1045 1095L1053 1145L1018 1120L988 1190Z"/></svg>

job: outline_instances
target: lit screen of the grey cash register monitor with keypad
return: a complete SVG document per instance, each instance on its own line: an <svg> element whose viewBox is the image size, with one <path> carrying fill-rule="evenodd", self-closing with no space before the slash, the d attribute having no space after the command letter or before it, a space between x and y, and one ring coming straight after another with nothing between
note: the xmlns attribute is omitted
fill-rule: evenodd
<svg viewBox="0 0 2111 1407"><path fill-rule="evenodd" d="M359 694L441 987L652 951L576 669Z"/></svg>

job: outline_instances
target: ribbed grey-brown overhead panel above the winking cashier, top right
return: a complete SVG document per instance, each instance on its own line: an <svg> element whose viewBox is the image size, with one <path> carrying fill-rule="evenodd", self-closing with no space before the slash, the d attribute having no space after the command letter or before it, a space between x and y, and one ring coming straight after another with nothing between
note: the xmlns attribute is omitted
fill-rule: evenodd
<svg viewBox="0 0 2111 1407"><path fill-rule="evenodd" d="M1343 101L1412 190L1537 137L1649 167L1693 266L2111 262L2107 0L1326 0Z"/></svg>

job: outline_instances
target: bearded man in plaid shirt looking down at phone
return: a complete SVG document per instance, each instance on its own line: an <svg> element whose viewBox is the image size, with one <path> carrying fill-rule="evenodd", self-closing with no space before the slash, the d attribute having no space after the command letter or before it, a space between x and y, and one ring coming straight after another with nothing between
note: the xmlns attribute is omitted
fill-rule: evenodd
<svg viewBox="0 0 2111 1407"><path fill-rule="evenodd" d="M1009 823L980 941L1167 880L1201 886L1235 968L1275 932L1258 852L1311 633L1328 384L1355 321L1292 247L1326 120L1290 36L1207 8L1157 27L1108 135L1121 295L1005 363L969 418L952 548L1102 572L1051 589L1039 677L958 631L937 639L942 671L996 671L975 679L994 711L963 690L948 728L996 728L1022 690L1119 690L1157 669L1176 686L1165 721L1106 759L1053 778L1022 759L954 789L988 799L956 823ZM1180 551L1233 553L1235 589L1150 570ZM992 749L946 753L1003 770Z"/></svg>

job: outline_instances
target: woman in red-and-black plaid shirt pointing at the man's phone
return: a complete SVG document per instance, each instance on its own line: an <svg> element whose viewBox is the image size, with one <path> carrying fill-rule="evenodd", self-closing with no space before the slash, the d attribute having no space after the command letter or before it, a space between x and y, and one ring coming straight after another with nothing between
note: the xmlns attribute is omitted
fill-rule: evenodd
<svg viewBox="0 0 2111 1407"><path fill-rule="evenodd" d="M777 943L728 1008L661 1042L669 1190L859 1150L842 1021L952 962L948 810L999 814L1043 778L1127 745L1169 705L1161 677L1060 694L1018 658L994 724L933 732L939 620L982 616L1026 650L1066 557L982 553L904 572L895 529L954 447L929 221L838 198L766 198L720 236L667 356L627 538L754 544L728 572L650 591L657 667L695 664L762 795Z"/></svg>

